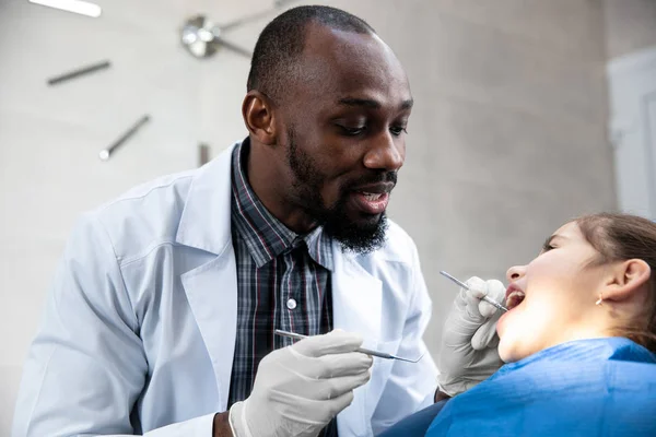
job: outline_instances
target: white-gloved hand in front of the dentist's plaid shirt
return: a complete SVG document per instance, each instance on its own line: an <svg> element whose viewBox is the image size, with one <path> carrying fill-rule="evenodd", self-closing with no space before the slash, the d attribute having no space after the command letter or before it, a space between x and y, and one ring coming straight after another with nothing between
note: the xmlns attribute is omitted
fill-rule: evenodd
<svg viewBox="0 0 656 437"><path fill-rule="evenodd" d="M235 437L315 437L370 379L372 357L354 352L362 338L344 331L309 336L271 352L253 392L230 409Z"/></svg>

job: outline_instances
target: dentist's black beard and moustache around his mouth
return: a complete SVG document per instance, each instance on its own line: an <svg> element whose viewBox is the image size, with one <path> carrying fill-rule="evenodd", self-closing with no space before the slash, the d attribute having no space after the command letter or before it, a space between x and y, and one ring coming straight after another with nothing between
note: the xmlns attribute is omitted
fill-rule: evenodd
<svg viewBox="0 0 656 437"><path fill-rule="evenodd" d="M350 188L368 184L394 182L397 180L396 172L372 170L371 175L352 180L340 187L339 198L335 204L326 206L321 199L320 189L324 176L317 169L313 158L295 142L293 129L288 132L288 162L295 177L293 189L295 197L302 202L302 208L317 223L324 232L338 240L345 250L356 253L367 253L383 246L387 231L387 216L380 214L378 221L358 224L352 222L347 214L347 202Z"/></svg>

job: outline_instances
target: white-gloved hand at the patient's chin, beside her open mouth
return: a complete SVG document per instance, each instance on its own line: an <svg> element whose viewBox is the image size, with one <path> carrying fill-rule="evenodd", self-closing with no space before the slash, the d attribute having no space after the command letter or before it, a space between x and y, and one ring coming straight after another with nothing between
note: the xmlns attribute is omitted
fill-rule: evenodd
<svg viewBox="0 0 656 437"><path fill-rule="evenodd" d="M504 304L506 288L500 281L476 276L466 284L470 291L460 288L454 300L437 357L440 390L452 397L469 390L503 365L496 351L496 322L503 311L481 297L488 295Z"/></svg>

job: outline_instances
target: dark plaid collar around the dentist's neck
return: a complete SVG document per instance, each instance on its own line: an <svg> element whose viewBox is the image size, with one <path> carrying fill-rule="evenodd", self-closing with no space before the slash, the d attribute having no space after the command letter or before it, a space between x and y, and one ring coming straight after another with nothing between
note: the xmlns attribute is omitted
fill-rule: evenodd
<svg viewBox="0 0 656 437"><path fill-rule="evenodd" d="M249 150L250 141L246 139L233 151L232 216L257 267L261 268L305 241L311 258L324 268L332 270L332 240L321 227L300 236L276 218L257 198L246 175Z"/></svg>

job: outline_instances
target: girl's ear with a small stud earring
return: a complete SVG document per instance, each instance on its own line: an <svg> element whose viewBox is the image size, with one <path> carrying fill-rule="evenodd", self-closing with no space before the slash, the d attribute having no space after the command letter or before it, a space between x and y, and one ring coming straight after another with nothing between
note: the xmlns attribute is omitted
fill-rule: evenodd
<svg viewBox="0 0 656 437"><path fill-rule="evenodd" d="M624 300L633 296L651 276L649 264L641 259L618 262L604 285L604 300Z"/></svg>

